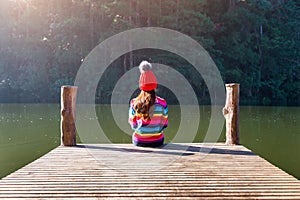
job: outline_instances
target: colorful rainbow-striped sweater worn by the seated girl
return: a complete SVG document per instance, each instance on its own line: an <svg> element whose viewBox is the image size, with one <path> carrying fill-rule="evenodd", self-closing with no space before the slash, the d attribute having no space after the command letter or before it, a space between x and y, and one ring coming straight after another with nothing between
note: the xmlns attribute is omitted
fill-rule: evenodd
<svg viewBox="0 0 300 200"><path fill-rule="evenodd" d="M132 140L137 144L159 143L164 140L163 130L168 126L168 106L166 100L156 96L154 113L150 120L143 120L134 110L135 99L130 101L129 124L134 130Z"/></svg>

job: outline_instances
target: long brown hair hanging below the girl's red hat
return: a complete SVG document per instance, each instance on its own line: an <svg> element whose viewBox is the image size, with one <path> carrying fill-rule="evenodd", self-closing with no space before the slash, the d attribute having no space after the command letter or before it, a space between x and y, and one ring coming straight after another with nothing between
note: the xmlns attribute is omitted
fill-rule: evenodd
<svg viewBox="0 0 300 200"><path fill-rule="evenodd" d="M144 120L149 120L153 115L153 105L155 103L155 90L141 91L139 96L135 99L134 110L137 114L142 115Z"/></svg>

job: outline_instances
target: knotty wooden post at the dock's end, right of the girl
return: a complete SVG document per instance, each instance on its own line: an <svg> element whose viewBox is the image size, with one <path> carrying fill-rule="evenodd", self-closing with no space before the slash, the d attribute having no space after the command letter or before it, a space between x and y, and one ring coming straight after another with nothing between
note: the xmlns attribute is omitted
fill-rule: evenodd
<svg viewBox="0 0 300 200"><path fill-rule="evenodd" d="M226 104L223 115L226 119L226 144L239 144L239 93L240 84L226 84Z"/></svg>

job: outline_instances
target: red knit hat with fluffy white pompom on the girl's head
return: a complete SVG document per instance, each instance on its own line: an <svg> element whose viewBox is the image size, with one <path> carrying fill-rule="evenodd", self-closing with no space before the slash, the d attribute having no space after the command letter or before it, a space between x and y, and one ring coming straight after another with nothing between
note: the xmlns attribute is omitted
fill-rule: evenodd
<svg viewBox="0 0 300 200"><path fill-rule="evenodd" d="M157 88L157 79L151 71L152 65L147 61L142 61L139 65L140 75L140 89L143 91L151 91Z"/></svg>

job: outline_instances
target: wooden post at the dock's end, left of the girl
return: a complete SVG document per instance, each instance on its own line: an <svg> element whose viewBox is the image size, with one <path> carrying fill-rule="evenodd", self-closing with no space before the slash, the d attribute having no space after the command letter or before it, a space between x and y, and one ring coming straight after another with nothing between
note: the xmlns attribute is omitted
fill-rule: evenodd
<svg viewBox="0 0 300 200"><path fill-rule="evenodd" d="M61 145L76 146L76 86L61 87Z"/></svg>

